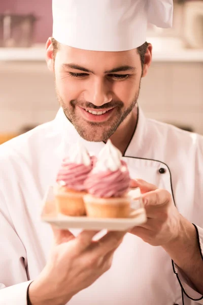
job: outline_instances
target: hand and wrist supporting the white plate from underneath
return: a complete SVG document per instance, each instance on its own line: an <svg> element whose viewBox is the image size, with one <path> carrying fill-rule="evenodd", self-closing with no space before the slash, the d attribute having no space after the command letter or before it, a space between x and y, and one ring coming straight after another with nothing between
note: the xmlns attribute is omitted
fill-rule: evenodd
<svg viewBox="0 0 203 305"><path fill-rule="evenodd" d="M31 305L64 305L79 291L94 283L110 269L113 254L126 232L108 232L92 241L97 231L53 228L54 247L39 278L29 286Z"/></svg>

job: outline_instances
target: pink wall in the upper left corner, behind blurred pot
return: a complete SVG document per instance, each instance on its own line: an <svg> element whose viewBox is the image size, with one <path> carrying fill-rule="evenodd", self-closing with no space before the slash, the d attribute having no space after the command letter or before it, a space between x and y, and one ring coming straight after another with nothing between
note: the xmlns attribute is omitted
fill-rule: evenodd
<svg viewBox="0 0 203 305"><path fill-rule="evenodd" d="M33 13L39 18L35 27L35 42L46 42L52 34L51 0L0 0L0 14L5 11L17 14Z"/></svg>

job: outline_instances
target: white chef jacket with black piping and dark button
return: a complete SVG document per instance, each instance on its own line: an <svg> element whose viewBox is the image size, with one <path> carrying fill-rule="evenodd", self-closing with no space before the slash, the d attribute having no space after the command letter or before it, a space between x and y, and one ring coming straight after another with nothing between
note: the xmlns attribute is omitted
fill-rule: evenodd
<svg viewBox="0 0 203 305"><path fill-rule="evenodd" d="M27 304L27 287L46 264L53 235L40 220L42 199L55 183L62 158L79 138L60 109L50 123L0 146L1 305ZM96 156L105 145L81 141ZM180 213L196 226L202 255L203 137L147 119L139 109L137 128L123 159L131 177L172 194ZM194 305L203 304L202 298L162 247L128 233L111 269L69 304Z"/></svg>

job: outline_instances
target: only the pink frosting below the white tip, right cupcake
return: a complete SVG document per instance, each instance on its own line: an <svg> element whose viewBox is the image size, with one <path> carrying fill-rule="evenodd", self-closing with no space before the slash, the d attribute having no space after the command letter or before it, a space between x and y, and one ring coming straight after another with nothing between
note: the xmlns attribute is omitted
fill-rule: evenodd
<svg viewBox="0 0 203 305"><path fill-rule="evenodd" d="M130 176L126 163L121 163L121 168L113 172L90 172L85 181L89 194L100 198L122 197L129 189Z"/></svg>

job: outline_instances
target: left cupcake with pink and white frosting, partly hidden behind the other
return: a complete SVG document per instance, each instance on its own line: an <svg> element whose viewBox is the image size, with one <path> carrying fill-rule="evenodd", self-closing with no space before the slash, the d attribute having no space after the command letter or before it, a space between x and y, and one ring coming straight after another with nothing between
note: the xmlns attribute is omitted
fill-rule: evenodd
<svg viewBox="0 0 203 305"><path fill-rule="evenodd" d="M85 215L84 182L93 168L95 157L90 157L81 143L71 147L69 157L63 159L54 191L58 212L67 216Z"/></svg>

